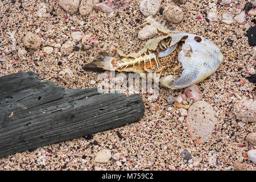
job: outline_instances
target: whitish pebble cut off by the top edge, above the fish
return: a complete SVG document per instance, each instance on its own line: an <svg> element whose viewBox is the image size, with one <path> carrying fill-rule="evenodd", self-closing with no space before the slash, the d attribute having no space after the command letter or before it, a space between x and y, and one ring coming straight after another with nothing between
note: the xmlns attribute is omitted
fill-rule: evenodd
<svg viewBox="0 0 256 182"><path fill-rule="evenodd" d="M139 5L139 10L144 16L154 16L158 13L161 5L161 0L143 0Z"/></svg>

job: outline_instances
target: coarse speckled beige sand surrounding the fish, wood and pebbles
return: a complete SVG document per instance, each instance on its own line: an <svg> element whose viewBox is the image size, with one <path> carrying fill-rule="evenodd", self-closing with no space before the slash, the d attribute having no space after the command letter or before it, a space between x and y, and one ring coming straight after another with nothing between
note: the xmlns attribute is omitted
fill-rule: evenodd
<svg viewBox="0 0 256 182"><path fill-rule="evenodd" d="M175 5L184 11L184 20L179 24L165 21L159 12L154 16L171 30L212 40L224 54L224 61L216 73L197 84L203 94L202 100L216 109L219 121L208 142L193 140L186 119L178 121L180 108L167 103L168 96L179 96L184 89L160 87L157 100L149 100L148 94L140 93L146 106L141 121L6 156L0 159L0 170L233 170L234 161L239 160L248 164L247 170L255 171L255 164L245 153L253 148L246 143L246 136L255 130L256 123L241 127L233 114L233 105L241 98L255 100L255 86L245 78L250 76L247 70L255 69L256 63L255 48L249 46L245 32L247 26L255 26L253 16L247 16L241 24L209 22L207 10L212 2L217 3L220 16L227 12L236 16L238 2L221 5L220 1L210 0L188 0L183 5L162 1L162 8ZM17 30L15 38L19 48L23 47L24 35L35 31L44 39L59 39L61 45L71 39L71 33L76 30L85 35L91 34L99 42L90 49L73 51L75 55L69 60L55 52L45 55L42 47L36 51L27 49L24 60L10 53L5 61L0 61L0 76L34 71L39 77L67 88L90 88L98 84L96 78L99 73L84 71L82 67L93 61L98 52L110 50L113 45L118 45L125 53L136 52L147 41L138 39L142 27L135 28L146 18L139 10L138 1L128 1L128 7L115 11L112 18L98 10L85 16L79 13L68 15L57 0L3 0L0 7L0 44L3 45L0 46L0 53L11 48L6 31L14 30ZM81 21L84 21L83 25ZM230 44L228 39L233 43ZM65 68L71 69L75 75L73 84L65 84L59 78L58 73ZM96 85L92 84L92 80L96 81ZM96 163L97 152L105 149L112 156L119 152L122 165L117 165L113 159L107 163ZM189 151L192 159L199 164L192 166L185 161L180 154L182 150Z"/></svg>

